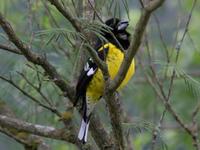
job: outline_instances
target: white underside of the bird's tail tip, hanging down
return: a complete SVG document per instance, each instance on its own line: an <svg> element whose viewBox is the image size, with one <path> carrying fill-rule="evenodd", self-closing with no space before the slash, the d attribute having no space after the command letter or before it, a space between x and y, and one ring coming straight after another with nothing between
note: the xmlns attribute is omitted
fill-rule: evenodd
<svg viewBox="0 0 200 150"><path fill-rule="evenodd" d="M82 119L81 127L78 133L78 139L81 140L83 143L87 142L89 124L90 124L89 117L87 117L86 119Z"/></svg>

